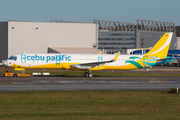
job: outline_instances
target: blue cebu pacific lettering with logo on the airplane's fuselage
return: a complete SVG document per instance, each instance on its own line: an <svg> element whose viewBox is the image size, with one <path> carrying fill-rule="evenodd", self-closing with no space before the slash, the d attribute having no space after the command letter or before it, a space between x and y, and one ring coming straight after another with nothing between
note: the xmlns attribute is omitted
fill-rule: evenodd
<svg viewBox="0 0 180 120"><path fill-rule="evenodd" d="M37 54L35 55L26 55L26 54L21 54L21 62L26 62L26 61L46 61L52 62L52 61L71 61L71 56L67 56L65 54L62 55L54 55L54 56L38 56Z"/></svg>

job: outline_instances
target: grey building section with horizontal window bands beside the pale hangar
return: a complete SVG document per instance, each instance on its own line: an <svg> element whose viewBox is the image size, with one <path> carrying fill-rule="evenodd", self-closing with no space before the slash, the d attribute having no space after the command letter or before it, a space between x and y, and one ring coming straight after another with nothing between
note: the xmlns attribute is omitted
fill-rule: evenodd
<svg viewBox="0 0 180 120"><path fill-rule="evenodd" d="M94 20L98 24L98 49L108 54L136 47L134 23Z"/></svg>

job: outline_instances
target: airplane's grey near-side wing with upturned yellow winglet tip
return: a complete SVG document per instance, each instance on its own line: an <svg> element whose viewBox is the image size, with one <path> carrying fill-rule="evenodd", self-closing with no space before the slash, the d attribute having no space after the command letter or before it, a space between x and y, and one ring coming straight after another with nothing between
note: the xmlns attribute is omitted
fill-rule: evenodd
<svg viewBox="0 0 180 120"><path fill-rule="evenodd" d="M70 65L73 68L76 69L90 69L90 68L94 68L100 65L104 65L106 63L111 63L117 60L118 56L119 56L120 52L116 55L116 57L110 61L103 61L103 62L92 62L92 63L82 63L82 64L74 64L74 65Z"/></svg>

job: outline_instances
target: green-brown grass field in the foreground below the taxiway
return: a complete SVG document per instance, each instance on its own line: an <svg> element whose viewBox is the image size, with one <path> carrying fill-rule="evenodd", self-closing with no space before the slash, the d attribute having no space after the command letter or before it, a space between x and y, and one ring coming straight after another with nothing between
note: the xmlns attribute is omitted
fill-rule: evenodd
<svg viewBox="0 0 180 120"><path fill-rule="evenodd" d="M0 119L179 119L168 91L1 92Z"/></svg>

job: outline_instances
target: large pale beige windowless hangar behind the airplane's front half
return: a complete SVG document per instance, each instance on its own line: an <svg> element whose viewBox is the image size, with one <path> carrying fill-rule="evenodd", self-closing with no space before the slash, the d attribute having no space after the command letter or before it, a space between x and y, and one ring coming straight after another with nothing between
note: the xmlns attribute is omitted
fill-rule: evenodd
<svg viewBox="0 0 180 120"><path fill-rule="evenodd" d="M84 53L98 53L97 24L55 22L0 22L0 59L17 53L60 52L68 47L71 53L83 48ZM82 50L79 50L82 52Z"/></svg>

